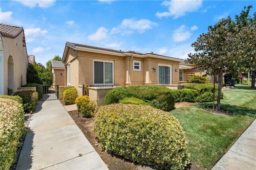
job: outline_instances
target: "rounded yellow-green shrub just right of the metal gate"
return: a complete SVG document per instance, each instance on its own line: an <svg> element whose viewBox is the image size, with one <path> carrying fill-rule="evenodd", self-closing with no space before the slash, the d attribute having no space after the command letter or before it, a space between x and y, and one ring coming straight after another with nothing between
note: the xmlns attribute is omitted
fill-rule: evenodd
<svg viewBox="0 0 256 170"><path fill-rule="evenodd" d="M63 95L63 101L65 105L70 105L70 104L75 104L75 100L78 97L78 92L76 88L71 87L71 88L66 88L62 90L62 95Z"/></svg>

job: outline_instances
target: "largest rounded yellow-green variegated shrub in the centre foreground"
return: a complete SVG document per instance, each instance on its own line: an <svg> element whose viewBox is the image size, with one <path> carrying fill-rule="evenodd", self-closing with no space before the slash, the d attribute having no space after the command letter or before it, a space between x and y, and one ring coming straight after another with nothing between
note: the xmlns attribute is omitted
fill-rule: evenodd
<svg viewBox="0 0 256 170"><path fill-rule="evenodd" d="M156 169L184 169L190 161L178 120L151 106L102 106L94 119L94 132L106 152Z"/></svg>

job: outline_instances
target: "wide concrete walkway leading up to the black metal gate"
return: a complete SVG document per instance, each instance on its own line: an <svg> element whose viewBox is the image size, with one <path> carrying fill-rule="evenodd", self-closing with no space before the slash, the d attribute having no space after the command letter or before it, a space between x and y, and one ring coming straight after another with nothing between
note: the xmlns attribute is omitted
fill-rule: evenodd
<svg viewBox="0 0 256 170"><path fill-rule="evenodd" d="M106 170L96 150L59 100L40 101L32 116L16 170Z"/></svg>

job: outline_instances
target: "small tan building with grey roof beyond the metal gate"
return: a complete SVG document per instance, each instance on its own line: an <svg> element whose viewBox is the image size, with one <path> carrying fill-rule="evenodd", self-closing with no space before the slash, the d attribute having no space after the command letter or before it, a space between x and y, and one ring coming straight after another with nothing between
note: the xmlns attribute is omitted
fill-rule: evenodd
<svg viewBox="0 0 256 170"><path fill-rule="evenodd" d="M54 79L53 84L65 86L65 66L62 61L51 61L50 70L52 70Z"/></svg>

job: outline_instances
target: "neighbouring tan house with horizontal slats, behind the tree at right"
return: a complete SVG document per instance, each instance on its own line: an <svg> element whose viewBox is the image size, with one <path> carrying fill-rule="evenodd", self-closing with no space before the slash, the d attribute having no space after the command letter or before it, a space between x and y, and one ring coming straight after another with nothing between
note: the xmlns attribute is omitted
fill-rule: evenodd
<svg viewBox="0 0 256 170"><path fill-rule="evenodd" d="M196 68L195 64L185 62L180 63L180 82L188 82L193 75L204 74L206 74L206 70L201 71L199 68ZM213 82L214 76L207 77L211 79L211 82ZM215 82L218 83L218 75L215 76Z"/></svg>

